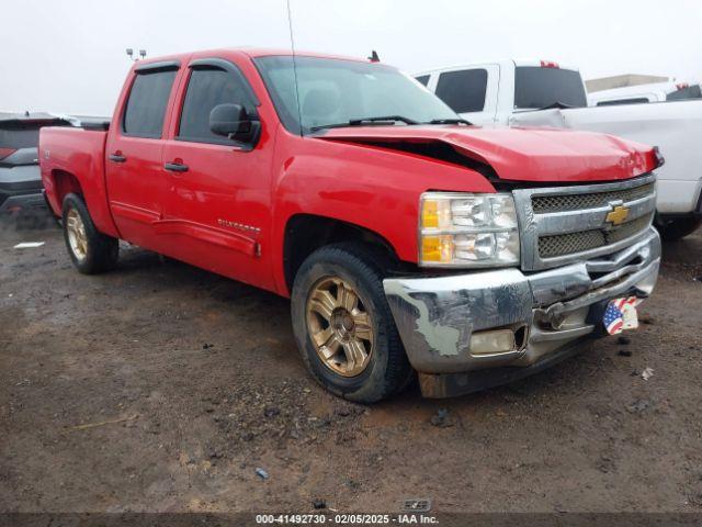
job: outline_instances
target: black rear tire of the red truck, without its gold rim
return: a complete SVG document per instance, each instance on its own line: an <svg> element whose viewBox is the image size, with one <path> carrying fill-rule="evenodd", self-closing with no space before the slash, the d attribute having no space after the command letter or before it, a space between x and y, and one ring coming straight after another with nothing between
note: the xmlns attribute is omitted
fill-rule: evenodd
<svg viewBox="0 0 702 527"><path fill-rule="evenodd" d="M79 255L71 246L69 234L69 213L76 211L82 221L86 232L87 250ZM114 269L120 258L120 240L100 233L92 223L86 202L78 194L67 194L64 198L63 229L66 248L73 266L83 274L95 274Z"/></svg>

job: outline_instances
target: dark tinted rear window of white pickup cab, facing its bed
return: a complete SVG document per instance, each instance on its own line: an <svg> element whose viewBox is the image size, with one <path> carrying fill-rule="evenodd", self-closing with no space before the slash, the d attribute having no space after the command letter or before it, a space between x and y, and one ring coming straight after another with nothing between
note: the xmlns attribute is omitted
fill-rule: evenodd
<svg viewBox="0 0 702 527"><path fill-rule="evenodd" d="M514 74L514 108L540 109L562 103L573 108L588 105L578 71L571 69L520 66Z"/></svg>

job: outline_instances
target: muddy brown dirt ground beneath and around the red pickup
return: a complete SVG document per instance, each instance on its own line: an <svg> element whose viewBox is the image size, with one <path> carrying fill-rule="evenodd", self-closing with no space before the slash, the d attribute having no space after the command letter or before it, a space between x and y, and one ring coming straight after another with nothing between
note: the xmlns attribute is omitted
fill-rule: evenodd
<svg viewBox="0 0 702 527"><path fill-rule="evenodd" d="M0 232L0 511L702 512L702 234L631 344L372 407L310 380L286 300L123 249L86 277L58 229Z"/></svg>

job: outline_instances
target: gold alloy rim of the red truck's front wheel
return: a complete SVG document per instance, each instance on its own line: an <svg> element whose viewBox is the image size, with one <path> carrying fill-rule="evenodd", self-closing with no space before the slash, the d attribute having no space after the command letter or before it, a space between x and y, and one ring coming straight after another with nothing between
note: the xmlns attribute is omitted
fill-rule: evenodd
<svg viewBox="0 0 702 527"><path fill-rule="evenodd" d="M307 298L307 330L321 361L335 373L356 377L373 352L373 323L349 282L326 277Z"/></svg>

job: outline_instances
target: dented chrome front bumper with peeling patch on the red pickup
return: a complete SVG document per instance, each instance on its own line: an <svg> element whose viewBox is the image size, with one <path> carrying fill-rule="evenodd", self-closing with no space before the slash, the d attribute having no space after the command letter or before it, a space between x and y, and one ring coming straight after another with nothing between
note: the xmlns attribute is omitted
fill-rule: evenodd
<svg viewBox="0 0 702 527"><path fill-rule="evenodd" d="M652 227L618 253L547 271L388 278L383 285L422 393L438 397L509 382L574 355L586 337L603 334L609 300L652 293L659 266ZM511 349L491 350L490 339Z"/></svg>

